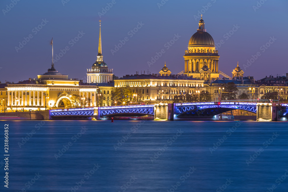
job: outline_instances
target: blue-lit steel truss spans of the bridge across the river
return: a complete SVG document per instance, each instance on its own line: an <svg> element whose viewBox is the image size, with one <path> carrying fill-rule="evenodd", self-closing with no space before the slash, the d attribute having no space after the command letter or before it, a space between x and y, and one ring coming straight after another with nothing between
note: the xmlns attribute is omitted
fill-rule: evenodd
<svg viewBox="0 0 288 192"><path fill-rule="evenodd" d="M80 109L56 109L50 110L50 116L54 117L141 117L154 116L156 105L130 105L130 106L111 106L111 107L91 107ZM174 117L212 117L227 111L240 109L257 113L257 103L255 102L197 102L197 103L174 103ZM288 116L288 104L278 106L281 117ZM171 111L169 110L169 111Z"/></svg>

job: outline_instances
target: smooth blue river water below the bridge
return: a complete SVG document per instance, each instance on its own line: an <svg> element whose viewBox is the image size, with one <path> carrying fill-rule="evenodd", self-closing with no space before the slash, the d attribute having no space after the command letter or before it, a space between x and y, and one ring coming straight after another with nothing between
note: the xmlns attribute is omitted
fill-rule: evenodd
<svg viewBox="0 0 288 192"><path fill-rule="evenodd" d="M288 191L287 122L5 123L0 191Z"/></svg>

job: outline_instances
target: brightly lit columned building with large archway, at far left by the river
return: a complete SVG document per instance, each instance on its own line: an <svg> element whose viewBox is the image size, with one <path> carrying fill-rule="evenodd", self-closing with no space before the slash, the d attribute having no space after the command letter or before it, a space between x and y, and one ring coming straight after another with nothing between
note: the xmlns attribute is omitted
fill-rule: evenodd
<svg viewBox="0 0 288 192"><path fill-rule="evenodd" d="M18 83L1 84L7 111L45 110L51 108L67 108L71 95L80 95L85 102L83 107L97 107L100 94L111 94L113 83L83 83L82 80L71 79L56 71L54 64L48 72L37 75L38 78L19 81ZM6 95L7 94L7 95ZM98 95L99 94L99 95ZM100 95L101 96L101 95ZM104 103L104 105L107 105Z"/></svg>

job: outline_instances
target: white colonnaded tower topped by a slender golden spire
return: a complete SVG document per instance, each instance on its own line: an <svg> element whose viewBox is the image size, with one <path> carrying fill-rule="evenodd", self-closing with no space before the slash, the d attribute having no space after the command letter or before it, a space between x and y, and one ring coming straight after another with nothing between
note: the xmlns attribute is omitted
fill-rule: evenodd
<svg viewBox="0 0 288 192"><path fill-rule="evenodd" d="M103 60L102 45L101 45L101 20L100 32L99 32L99 45L97 60L93 63L91 69L87 69L87 83L109 83L112 81L113 69L109 69L107 64Z"/></svg>

